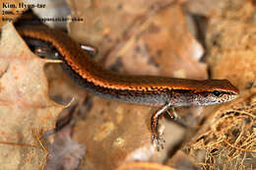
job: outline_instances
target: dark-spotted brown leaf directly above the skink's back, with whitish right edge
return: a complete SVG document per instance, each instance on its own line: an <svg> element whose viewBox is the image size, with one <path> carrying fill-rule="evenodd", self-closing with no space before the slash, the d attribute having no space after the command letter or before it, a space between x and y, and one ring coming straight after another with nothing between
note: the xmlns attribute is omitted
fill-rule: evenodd
<svg viewBox="0 0 256 170"><path fill-rule="evenodd" d="M130 74L207 78L206 65L199 62L203 48L187 31L179 5L162 9L118 46L108 55L107 67L121 60Z"/></svg>

